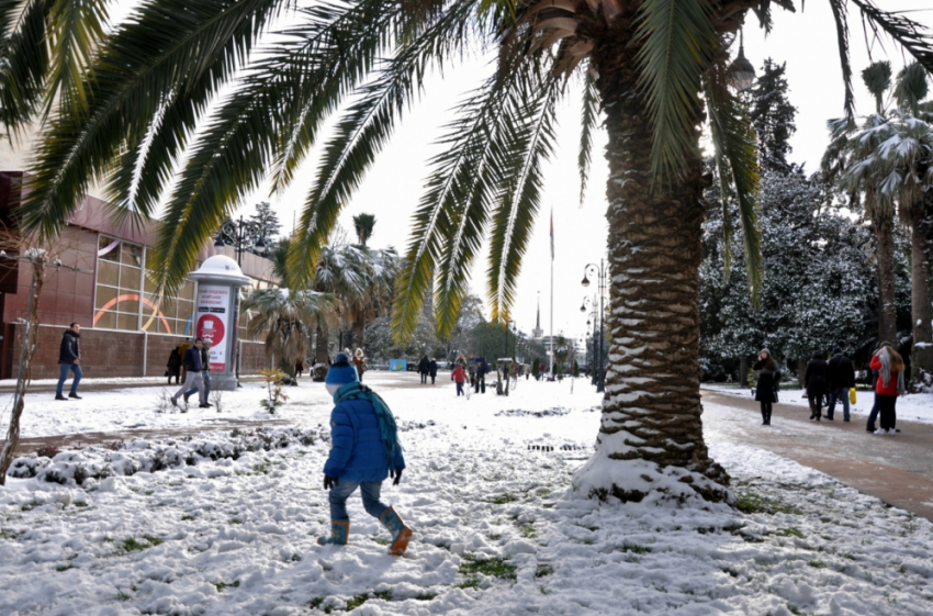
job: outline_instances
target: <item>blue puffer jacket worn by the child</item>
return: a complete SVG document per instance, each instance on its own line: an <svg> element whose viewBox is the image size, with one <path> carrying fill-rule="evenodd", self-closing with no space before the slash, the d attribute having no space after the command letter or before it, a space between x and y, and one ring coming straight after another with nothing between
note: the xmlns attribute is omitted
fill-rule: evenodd
<svg viewBox="0 0 933 616"><path fill-rule="evenodd" d="M389 477L379 419L366 400L345 400L330 413L330 456L324 474L347 481L383 481ZM401 448L395 468L404 469Z"/></svg>

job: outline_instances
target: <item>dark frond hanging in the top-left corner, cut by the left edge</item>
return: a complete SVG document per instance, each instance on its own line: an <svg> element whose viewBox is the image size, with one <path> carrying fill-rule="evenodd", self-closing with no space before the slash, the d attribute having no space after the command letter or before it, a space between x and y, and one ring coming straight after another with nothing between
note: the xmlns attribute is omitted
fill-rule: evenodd
<svg viewBox="0 0 933 616"><path fill-rule="evenodd" d="M25 127L44 94L48 71L45 25L52 9L43 0L0 2L0 124L8 137Z"/></svg>

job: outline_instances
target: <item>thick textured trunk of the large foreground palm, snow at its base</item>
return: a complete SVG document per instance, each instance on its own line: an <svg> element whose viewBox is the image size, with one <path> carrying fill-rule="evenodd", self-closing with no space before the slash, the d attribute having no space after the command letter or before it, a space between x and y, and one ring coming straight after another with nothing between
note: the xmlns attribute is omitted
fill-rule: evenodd
<svg viewBox="0 0 933 616"><path fill-rule="evenodd" d="M699 265L708 182L698 147L671 183L653 181L653 134L633 70L638 49L626 45L629 33L606 36L594 49L609 133L611 335L597 450L574 486L623 502L649 494L721 501L729 475L710 459L700 421ZM698 144L699 132L692 138Z"/></svg>

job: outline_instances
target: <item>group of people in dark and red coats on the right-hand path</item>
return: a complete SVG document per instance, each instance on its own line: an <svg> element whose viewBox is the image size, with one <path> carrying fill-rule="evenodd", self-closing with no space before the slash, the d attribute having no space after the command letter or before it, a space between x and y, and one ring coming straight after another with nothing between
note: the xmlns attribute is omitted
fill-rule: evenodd
<svg viewBox="0 0 933 616"><path fill-rule="evenodd" d="M755 400L761 404L762 425L769 426L773 405L778 401L780 390L780 370L768 349L762 349L752 369L758 372ZM900 432L897 429L897 400L907 393L903 358L890 343L885 341L872 356L868 369L874 381L875 401L865 429L877 435L895 435ZM843 422L851 421L850 402L854 402L855 397L855 369L840 347L832 350L829 361L823 358L822 351L813 351L803 372L803 389L811 421L823 418L824 402L827 419L834 419L835 405L842 403ZM876 427L879 415L880 422Z"/></svg>

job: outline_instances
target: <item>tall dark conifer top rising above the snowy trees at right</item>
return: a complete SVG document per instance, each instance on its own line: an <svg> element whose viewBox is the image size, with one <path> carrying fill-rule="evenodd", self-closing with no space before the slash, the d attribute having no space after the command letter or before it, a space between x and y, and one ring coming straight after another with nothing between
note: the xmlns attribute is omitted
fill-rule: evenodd
<svg viewBox="0 0 933 616"><path fill-rule="evenodd" d="M749 115L758 139L758 158L763 170L787 173L793 165L787 161L790 154L790 135L797 132L794 123L797 108L787 97L786 65L765 60L762 75L752 87Z"/></svg>

